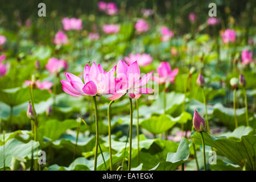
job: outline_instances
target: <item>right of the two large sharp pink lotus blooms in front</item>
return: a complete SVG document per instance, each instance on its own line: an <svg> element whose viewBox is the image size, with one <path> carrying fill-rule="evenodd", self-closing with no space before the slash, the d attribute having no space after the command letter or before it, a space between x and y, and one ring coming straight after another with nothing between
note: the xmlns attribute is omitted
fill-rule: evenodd
<svg viewBox="0 0 256 182"><path fill-rule="evenodd" d="M140 79L141 71L137 61L133 62L130 65L127 65L125 61L119 60L117 64L117 78L119 82L115 86L117 90L112 97L109 97L110 100L117 100L126 93L128 93L130 98L138 99L141 97L141 94L150 94L155 90L142 87L147 84L152 76L152 72L147 73Z"/></svg>

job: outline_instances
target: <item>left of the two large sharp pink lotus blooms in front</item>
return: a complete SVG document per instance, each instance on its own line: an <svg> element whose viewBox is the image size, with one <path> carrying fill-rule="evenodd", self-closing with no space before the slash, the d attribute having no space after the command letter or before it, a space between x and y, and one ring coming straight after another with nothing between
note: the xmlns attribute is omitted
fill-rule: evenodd
<svg viewBox="0 0 256 182"><path fill-rule="evenodd" d="M84 82L72 73L65 73L67 80L60 80L63 91L74 97L115 93L115 68L105 72L100 64L93 62L92 67L87 64L84 67Z"/></svg>

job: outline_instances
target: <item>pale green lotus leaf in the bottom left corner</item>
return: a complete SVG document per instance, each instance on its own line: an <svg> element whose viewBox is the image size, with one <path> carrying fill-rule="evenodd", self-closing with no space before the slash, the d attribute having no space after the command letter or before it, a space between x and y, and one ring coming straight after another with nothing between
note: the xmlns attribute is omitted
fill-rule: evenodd
<svg viewBox="0 0 256 182"><path fill-rule="evenodd" d="M3 147L5 147L5 153L3 152ZM8 140L4 146L0 146L0 168L3 168L3 157L5 156L6 167L11 167L11 159L13 157L20 157L24 159L31 159L31 150L33 147L33 155L36 158L37 152L40 152L39 143L31 140L28 143L22 143L19 140L13 138ZM38 147L38 150L36 150Z"/></svg>

